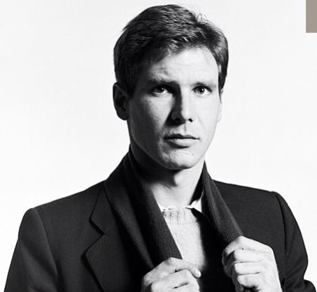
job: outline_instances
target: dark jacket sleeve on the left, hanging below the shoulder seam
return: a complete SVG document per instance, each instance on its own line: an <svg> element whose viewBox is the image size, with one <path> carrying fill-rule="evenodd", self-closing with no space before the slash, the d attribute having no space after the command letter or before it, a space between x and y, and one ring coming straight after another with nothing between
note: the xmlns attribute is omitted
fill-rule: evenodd
<svg viewBox="0 0 317 292"><path fill-rule="evenodd" d="M56 292L57 267L36 209L22 219L4 292Z"/></svg>

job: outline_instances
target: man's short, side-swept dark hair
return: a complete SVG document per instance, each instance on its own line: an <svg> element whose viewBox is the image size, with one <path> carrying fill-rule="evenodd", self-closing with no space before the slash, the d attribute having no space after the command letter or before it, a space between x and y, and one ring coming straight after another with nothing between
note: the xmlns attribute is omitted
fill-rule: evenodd
<svg viewBox="0 0 317 292"><path fill-rule="evenodd" d="M115 78L128 94L133 94L144 61L162 53L203 46L216 59L220 91L225 85L229 57L223 32L201 14L182 6L147 8L127 24L115 44Z"/></svg>

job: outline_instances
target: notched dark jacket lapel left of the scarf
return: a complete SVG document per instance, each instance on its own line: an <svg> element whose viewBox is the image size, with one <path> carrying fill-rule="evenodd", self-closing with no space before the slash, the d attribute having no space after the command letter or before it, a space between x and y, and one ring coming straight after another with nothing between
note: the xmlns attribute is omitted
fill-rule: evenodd
<svg viewBox="0 0 317 292"><path fill-rule="evenodd" d="M102 291L138 291L140 275L146 274L152 261L128 198L122 196L119 170L104 182L92 211L90 220L101 237L87 249L85 258Z"/></svg>

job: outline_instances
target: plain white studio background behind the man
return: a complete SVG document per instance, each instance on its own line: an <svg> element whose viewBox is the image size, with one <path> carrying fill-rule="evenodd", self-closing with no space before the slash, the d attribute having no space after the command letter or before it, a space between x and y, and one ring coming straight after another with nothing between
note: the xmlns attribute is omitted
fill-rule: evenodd
<svg viewBox="0 0 317 292"><path fill-rule="evenodd" d="M1 1L0 290L24 212L104 180L127 152L112 105L113 45L132 17L164 3ZM305 33L305 3L176 3L218 24L230 44L209 171L286 198L316 283L317 34Z"/></svg>

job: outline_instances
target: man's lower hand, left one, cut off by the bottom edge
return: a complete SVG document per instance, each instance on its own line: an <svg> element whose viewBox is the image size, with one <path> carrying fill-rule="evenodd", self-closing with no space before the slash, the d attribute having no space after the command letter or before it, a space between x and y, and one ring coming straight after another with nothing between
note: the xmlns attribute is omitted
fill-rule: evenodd
<svg viewBox="0 0 317 292"><path fill-rule="evenodd" d="M168 258L142 279L141 292L199 291L196 278L200 272L195 265L178 258Z"/></svg>

